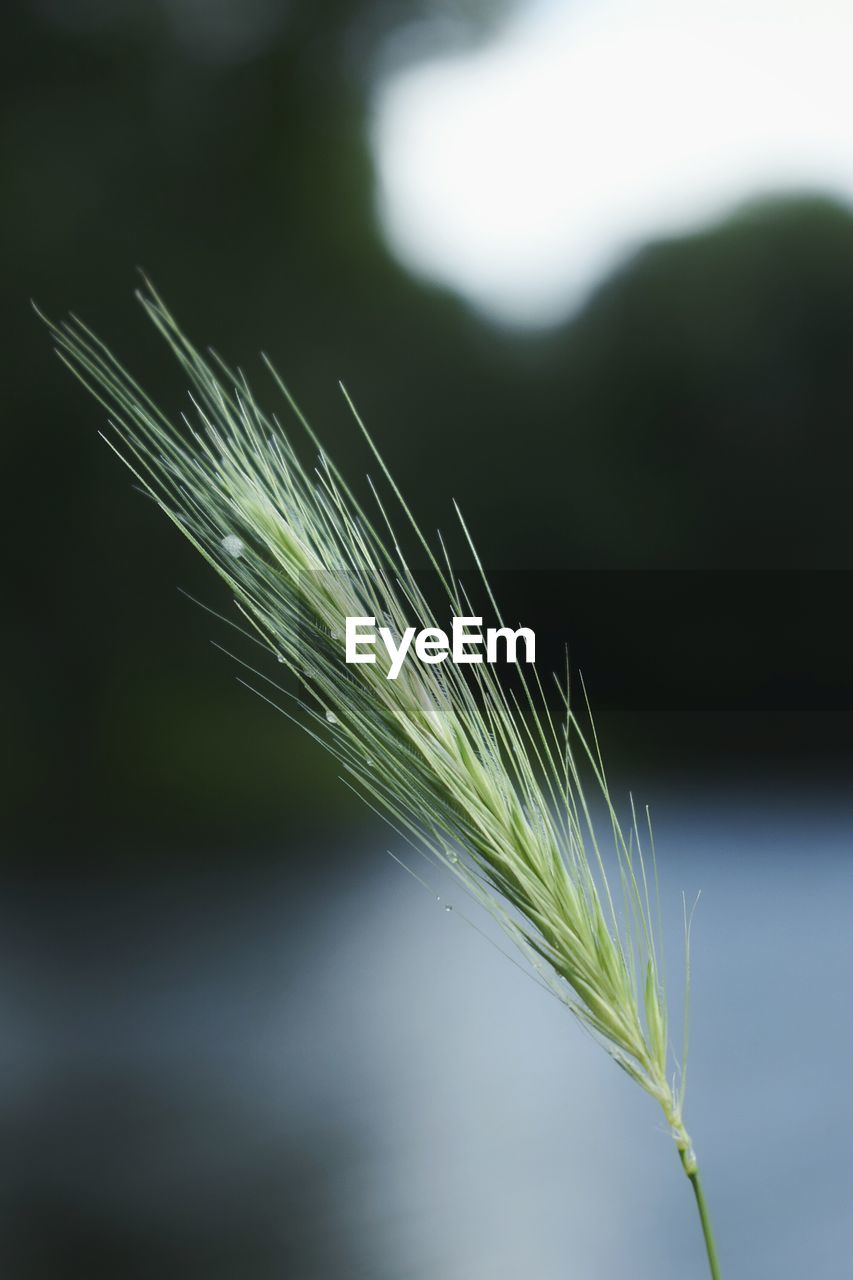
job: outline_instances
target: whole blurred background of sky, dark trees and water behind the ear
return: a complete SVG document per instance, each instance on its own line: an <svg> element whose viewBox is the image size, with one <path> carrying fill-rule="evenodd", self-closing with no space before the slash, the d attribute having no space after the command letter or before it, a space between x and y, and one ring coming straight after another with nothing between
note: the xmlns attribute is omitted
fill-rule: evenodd
<svg viewBox="0 0 853 1280"><path fill-rule="evenodd" d="M570 643L656 815L674 969L703 895L688 1121L726 1275L843 1274L849 6L4 26L4 1276L703 1274L651 1103L179 594L229 608L29 307L177 412L137 268L361 476L343 379L424 526L457 498L507 614Z"/></svg>

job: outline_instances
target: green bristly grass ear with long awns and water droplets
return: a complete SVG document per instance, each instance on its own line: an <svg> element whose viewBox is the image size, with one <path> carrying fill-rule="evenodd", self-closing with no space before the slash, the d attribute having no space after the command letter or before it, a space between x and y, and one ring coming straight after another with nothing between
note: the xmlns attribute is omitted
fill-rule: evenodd
<svg viewBox="0 0 853 1280"><path fill-rule="evenodd" d="M430 617L386 507L374 490L374 526L323 452L316 468L306 470L245 379L218 357L202 357L152 289L140 301L192 388L191 413L179 425L81 321L50 325L61 358L109 410L113 447L225 580L255 636L297 675L306 692L295 699L293 717L338 759L350 785L450 868L538 977L662 1107L697 1197L711 1274L719 1277L683 1120L686 1043L680 1080L670 1074L658 913L639 824L633 814L624 832L594 732L581 731L567 681L555 718L538 677L520 676L519 691L511 692L485 663L465 676L450 663L441 675L410 663L394 681L386 678L380 654L355 673L346 667L339 641L346 617L382 617L398 632ZM433 549L424 539L365 436L451 613L476 612L443 543ZM483 582L488 590L484 575ZM489 600L497 614L491 591ZM606 812L617 895L593 806Z"/></svg>

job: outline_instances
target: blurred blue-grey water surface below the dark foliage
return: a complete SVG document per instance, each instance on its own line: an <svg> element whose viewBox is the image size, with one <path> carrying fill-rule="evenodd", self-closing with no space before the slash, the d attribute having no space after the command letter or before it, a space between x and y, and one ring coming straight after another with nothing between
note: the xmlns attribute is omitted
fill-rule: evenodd
<svg viewBox="0 0 853 1280"><path fill-rule="evenodd" d="M672 969L702 890L688 1121L725 1274L835 1280L853 812L660 808ZM382 847L6 893L4 1276L704 1275L652 1103Z"/></svg>

